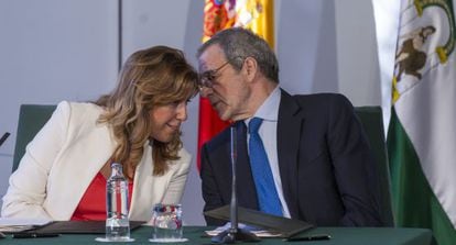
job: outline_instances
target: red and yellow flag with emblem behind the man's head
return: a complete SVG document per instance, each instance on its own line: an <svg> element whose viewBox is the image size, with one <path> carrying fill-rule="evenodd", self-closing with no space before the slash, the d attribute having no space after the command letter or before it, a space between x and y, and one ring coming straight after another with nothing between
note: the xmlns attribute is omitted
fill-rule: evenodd
<svg viewBox="0 0 456 245"><path fill-rule="evenodd" d="M220 30L242 26L262 36L273 48L273 0L206 0L203 42L209 40ZM199 151L203 144L228 125L228 122L218 118L208 99L199 99L198 169Z"/></svg>

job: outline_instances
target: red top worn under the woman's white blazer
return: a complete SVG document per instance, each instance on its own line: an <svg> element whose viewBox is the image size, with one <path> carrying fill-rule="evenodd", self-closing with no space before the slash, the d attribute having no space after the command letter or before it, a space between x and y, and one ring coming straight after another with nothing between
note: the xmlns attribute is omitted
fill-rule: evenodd
<svg viewBox="0 0 456 245"><path fill-rule="evenodd" d="M128 205L130 209L133 193L133 181L128 181ZM98 172L91 180L86 192L76 207L72 221L104 221L106 220L106 179Z"/></svg>

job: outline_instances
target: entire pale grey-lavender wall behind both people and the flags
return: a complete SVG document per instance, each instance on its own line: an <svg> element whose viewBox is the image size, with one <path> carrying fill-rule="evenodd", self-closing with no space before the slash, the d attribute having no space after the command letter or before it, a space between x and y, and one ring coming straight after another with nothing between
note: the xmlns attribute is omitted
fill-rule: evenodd
<svg viewBox="0 0 456 245"><path fill-rule="evenodd" d="M121 57L151 45L181 48L196 65L203 0L122 0ZM343 92L380 104L373 11L366 0L275 0L281 86L292 93ZM0 196L8 188L19 105L91 100L116 83L118 1L0 1ZM188 104L184 145L196 156L198 98ZM194 159L183 207L203 224Z"/></svg>

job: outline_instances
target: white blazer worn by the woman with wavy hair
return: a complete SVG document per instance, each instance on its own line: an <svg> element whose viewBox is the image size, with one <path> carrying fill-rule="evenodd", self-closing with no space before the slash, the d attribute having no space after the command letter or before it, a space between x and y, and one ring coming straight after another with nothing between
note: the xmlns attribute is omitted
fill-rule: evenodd
<svg viewBox="0 0 456 245"><path fill-rule="evenodd" d="M69 220L87 187L111 157L117 143L107 124L96 121L102 109L93 103L58 104L50 121L26 146L10 177L1 215ZM170 164L163 176L152 176L152 147L134 174L130 220L149 221L155 203L178 203L189 170L191 155Z"/></svg>

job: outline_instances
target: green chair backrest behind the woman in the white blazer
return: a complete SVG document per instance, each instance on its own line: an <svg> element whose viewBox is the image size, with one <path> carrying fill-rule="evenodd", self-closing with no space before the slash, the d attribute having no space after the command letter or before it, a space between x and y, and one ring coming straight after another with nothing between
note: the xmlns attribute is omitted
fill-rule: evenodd
<svg viewBox="0 0 456 245"><path fill-rule="evenodd" d="M56 105L22 104L19 112L18 133L15 137L12 171L14 171L22 156L25 154L25 146L33 140L36 133L50 120Z"/></svg>

